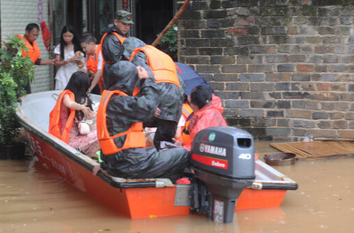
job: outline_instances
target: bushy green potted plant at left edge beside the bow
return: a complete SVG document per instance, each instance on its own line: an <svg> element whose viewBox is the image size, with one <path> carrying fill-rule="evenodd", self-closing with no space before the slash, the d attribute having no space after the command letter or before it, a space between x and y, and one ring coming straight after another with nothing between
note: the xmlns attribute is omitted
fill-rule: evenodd
<svg viewBox="0 0 354 233"><path fill-rule="evenodd" d="M7 37L0 49L0 158L19 158L24 144L16 141L19 125L15 120L17 105L26 95L24 87L33 81L35 69L30 58L21 55L28 51L19 37ZM23 155L21 155L23 154Z"/></svg>

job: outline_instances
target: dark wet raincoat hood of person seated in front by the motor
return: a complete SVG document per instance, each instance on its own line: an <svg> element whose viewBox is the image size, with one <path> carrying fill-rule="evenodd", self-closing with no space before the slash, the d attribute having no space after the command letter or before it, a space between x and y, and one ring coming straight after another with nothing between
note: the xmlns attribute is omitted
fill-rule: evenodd
<svg viewBox="0 0 354 233"><path fill-rule="evenodd" d="M138 71L131 62L119 61L108 70L108 89L110 91L120 90L128 96L132 96L136 81L138 80Z"/></svg>

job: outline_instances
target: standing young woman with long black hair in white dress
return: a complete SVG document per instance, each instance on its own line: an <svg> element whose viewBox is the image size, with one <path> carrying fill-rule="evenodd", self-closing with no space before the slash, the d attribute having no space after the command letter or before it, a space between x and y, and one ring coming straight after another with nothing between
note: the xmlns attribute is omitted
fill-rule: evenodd
<svg viewBox="0 0 354 233"><path fill-rule="evenodd" d="M83 55L75 55L77 51L82 51L80 38L76 34L73 26L64 26L64 28L62 28L60 44L55 46L54 49L55 58L57 60L55 66L60 67L57 70L57 74L55 74L55 89L63 90L67 87L71 75L79 69L78 62L85 62Z"/></svg>

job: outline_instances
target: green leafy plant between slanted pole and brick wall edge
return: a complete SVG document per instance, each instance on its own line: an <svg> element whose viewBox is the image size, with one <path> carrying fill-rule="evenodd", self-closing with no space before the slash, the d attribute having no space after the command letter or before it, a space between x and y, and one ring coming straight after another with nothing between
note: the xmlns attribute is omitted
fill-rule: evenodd
<svg viewBox="0 0 354 233"><path fill-rule="evenodd" d="M173 25L166 33L165 36L162 37L159 42L159 49L164 51L172 60L177 61L177 31L175 30L177 25ZM160 34L157 35L159 37Z"/></svg>

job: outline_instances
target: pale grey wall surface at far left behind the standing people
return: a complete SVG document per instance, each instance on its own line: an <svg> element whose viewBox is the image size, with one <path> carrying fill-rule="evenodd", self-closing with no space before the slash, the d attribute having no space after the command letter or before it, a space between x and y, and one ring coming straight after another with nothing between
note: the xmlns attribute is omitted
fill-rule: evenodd
<svg viewBox="0 0 354 233"><path fill-rule="evenodd" d="M48 0L43 0L43 16L48 27ZM1 0L1 40L9 35L24 35L27 24L38 23L38 0ZM46 51L42 34L36 40L41 51L41 58L50 59ZM35 83L31 84L32 92L41 92L53 89L53 66L35 66Z"/></svg>

